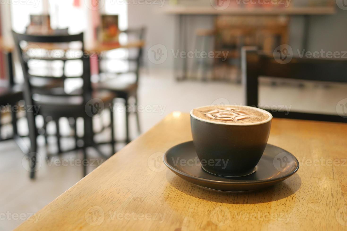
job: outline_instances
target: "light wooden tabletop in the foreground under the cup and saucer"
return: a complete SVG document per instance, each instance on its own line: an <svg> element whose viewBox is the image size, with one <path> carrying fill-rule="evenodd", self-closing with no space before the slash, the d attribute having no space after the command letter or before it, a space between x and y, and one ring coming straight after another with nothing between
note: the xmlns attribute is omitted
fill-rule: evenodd
<svg viewBox="0 0 347 231"><path fill-rule="evenodd" d="M174 112L17 230L346 230L346 131L273 119L269 143L293 153L298 172L261 191L224 193L162 163L171 146L192 139L189 115Z"/></svg>

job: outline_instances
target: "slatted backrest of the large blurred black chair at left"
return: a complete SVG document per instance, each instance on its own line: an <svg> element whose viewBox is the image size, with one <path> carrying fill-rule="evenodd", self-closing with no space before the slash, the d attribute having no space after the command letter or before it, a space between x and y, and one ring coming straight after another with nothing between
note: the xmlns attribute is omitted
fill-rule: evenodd
<svg viewBox="0 0 347 231"><path fill-rule="evenodd" d="M91 81L90 81L90 60L89 55L84 51L83 33L76 35L28 35L18 34L12 32L15 40L16 50L19 54L19 60L22 65L24 75L24 95L25 100L32 103L33 94L49 95L53 97L70 97L70 96L81 96L83 101L86 102L91 98ZM27 45L26 47L23 47ZM73 43L78 48L70 48L69 44ZM72 46L71 46L72 47ZM36 52L43 51L39 56L32 55L29 51L36 49ZM57 52L57 53L56 53ZM28 63L32 61L46 61L62 62L62 74L59 76L51 75L37 75L32 74ZM69 60L81 60L83 65L82 74L76 76L66 76L65 74L65 63ZM54 65L54 64L53 64ZM76 89L73 94L67 94L64 91L64 87L60 90L52 90L48 86L64 86L66 79L79 78L83 80L82 88ZM33 79L39 82L47 83L43 86L36 86L32 84ZM54 84L52 84L54 83ZM59 83L59 84L58 84Z"/></svg>

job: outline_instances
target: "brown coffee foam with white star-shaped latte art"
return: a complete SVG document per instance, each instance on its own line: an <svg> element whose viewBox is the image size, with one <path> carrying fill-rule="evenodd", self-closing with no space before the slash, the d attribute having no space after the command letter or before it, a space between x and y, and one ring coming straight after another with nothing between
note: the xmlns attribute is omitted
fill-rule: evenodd
<svg viewBox="0 0 347 231"><path fill-rule="evenodd" d="M259 108L233 105L195 108L191 114L209 122L240 125L266 122L271 116L271 114Z"/></svg>

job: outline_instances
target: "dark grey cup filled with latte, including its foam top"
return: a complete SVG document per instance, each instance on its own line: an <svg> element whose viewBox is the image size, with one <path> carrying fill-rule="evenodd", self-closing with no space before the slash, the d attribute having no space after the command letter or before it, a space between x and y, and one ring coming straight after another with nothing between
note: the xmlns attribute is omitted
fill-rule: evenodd
<svg viewBox="0 0 347 231"><path fill-rule="evenodd" d="M193 143L201 167L214 175L252 174L269 139L272 115L260 108L213 105L191 110Z"/></svg>

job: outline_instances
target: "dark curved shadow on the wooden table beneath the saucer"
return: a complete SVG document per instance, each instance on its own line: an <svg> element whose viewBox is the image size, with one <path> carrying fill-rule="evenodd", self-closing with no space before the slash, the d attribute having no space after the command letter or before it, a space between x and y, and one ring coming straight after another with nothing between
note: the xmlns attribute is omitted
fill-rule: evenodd
<svg viewBox="0 0 347 231"><path fill-rule="evenodd" d="M222 192L194 185L171 171L167 171L166 178L172 187L188 196L206 201L214 201L229 204L258 204L286 198L293 195L301 186L301 178L294 174L279 184L251 191L251 192Z"/></svg>

